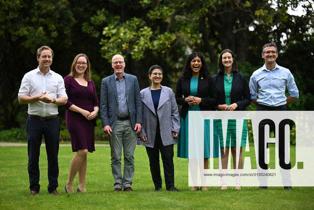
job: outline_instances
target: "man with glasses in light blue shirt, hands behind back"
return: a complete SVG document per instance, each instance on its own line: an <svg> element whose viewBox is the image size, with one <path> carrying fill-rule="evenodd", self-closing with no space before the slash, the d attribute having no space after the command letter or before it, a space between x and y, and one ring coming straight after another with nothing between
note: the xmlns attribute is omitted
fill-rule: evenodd
<svg viewBox="0 0 314 210"><path fill-rule="evenodd" d="M277 46L274 43L267 43L263 46L262 57L265 64L262 68L253 72L250 79L250 92L252 103L257 106L257 111L287 111L286 105L291 104L299 98L299 90L296 87L294 77L289 69L279 66L276 63L278 58ZM286 87L290 96L285 96ZM258 95L258 98L257 98ZM265 147L265 125L268 124L270 131L274 131L275 124L272 120L265 119L258 126L258 163L259 169L268 169L265 163L267 154L264 152ZM288 121L285 122L288 124ZM284 145L284 127L279 128L279 145ZM284 162L284 146L279 146L279 166L283 180L284 189L292 190L290 170L291 163ZM265 157L266 156L266 157ZM267 189L267 176L258 177L260 189Z"/></svg>

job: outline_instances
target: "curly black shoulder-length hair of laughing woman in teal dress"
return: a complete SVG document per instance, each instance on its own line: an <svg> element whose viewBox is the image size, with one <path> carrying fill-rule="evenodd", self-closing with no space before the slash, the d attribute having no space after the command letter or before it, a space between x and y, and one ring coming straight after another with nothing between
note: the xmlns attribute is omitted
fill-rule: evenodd
<svg viewBox="0 0 314 210"><path fill-rule="evenodd" d="M192 77L192 69L191 69L190 63L191 63L192 59L197 57L197 56L202 61L202 66L201 66L201 69L199 71L199 74L201 75L201 77L206 78L207 75L210 75L210 72L208 71L208 67L207 67L206 61L204 59L204 56L201 53L199 53L199 52L192 52L185 59L185 63L183 65L183 70L182 70L183 77L186 77L186 78L191 78Z"/></svg>

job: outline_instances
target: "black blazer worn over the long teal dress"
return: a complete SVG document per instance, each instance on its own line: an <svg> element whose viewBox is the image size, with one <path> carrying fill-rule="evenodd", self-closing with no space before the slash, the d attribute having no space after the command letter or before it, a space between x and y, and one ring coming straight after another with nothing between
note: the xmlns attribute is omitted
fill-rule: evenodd
<svg viewBox="0 0 314 210"><path fill-rule="evenodd" d="M187 115L189 104L184 100L190 96L191 78L186 78L181 75L176 83L176 102L178 105L182 105L180 114L183 118ZM182 98L183 95L183 98ZM197 95L202 99L199 104L201 111L214 111L217 104L216 85L213 78L210 75L207 77L198 77Z"/></svg>

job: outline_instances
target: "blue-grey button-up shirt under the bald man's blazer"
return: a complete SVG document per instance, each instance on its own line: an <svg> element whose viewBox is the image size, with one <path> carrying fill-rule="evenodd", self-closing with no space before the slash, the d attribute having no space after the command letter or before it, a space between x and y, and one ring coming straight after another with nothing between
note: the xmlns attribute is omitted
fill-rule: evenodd
<svg viewBox="0 0 314 210"><path fill-rule="evenodd" d="M129 109L127 107L127 95L125 89L125 75L123 73L122 80L120 81L119 77L116 76L116 88L118 94L118 116L129 116Z"/></svg>

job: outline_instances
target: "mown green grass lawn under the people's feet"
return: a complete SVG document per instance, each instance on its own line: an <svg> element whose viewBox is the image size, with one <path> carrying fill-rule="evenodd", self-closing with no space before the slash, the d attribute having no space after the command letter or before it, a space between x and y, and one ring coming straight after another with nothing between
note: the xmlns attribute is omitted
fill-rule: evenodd
<svg viewBox="0 0 314 210"><path fill-rule="evenodd" d="M68 178L68 170L74 153L70 146L59 149L60 195L47 192L47 156L41 147L40 172L41 191L29 196L27 172L27 147L0 147L0 209L312 209L314 208L314 187L242 187L235 190L220 190L208 187L208 191L190 191L188 186L187 160L174 158L175 185L181 190L153 192L154 184L149 171L149 162L143 146L135 150L135 174L132 188L134 192L113 193L113 178L110 167L110 147L98 146L94 153L88 153L86 189L88 193L66 194L63 187ZM176 153L176 146L175 146ZM162 169L163 171L163 169ZM162 175L163 177L163 175ZM77 177L74 189L78 185Z"/></svg>

